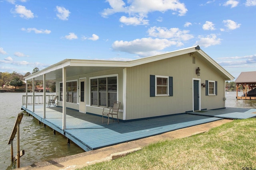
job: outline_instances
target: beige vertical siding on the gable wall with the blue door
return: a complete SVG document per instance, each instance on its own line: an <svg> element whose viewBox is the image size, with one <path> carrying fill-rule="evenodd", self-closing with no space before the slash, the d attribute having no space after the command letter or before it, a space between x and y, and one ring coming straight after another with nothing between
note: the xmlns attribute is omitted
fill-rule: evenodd
<svg viewBox="0 0 256 170"><path fill-rule="evenodd" d="M200 67L200 76L196 68ZM173 77L173 96L150 97L150 74ZM192 63L189 54L180 55L161 61L127 68L126 86L126 119L138 119L184 113L193 110L192 79L218 81L223 86L223 79L204 62L196 57ZM224 107L222 87L217 96L205 96L205 88L201 88L201 108L213 109Z"/></svg>

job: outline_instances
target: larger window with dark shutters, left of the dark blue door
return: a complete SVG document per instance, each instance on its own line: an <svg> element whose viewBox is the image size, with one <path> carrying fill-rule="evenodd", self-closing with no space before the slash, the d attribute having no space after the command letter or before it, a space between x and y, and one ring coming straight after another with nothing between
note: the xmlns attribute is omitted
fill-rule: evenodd
<svg viewBox="0 0 256 170"><path fill-rule="evenodd" d="M173 77L150 75L150 97L173 96Z"/></svg>

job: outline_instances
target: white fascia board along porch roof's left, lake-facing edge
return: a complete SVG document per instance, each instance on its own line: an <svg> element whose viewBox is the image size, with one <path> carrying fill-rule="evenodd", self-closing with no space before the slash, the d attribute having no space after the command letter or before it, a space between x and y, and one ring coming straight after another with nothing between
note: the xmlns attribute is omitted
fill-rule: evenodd
<svg viewBox="0 0 256 170"><path fill-rule="evenodd" d="M70 66L70 59L65 59L59 63L53 64L49 67L46 67L38 72L35 72L33 74L30 74L29 76L24 77L25 80L32 80L32 78L36 78L38 76L42 76L44 74L47 74L48 72L52 72L54 70L61 69L63 67Z"/></svg>

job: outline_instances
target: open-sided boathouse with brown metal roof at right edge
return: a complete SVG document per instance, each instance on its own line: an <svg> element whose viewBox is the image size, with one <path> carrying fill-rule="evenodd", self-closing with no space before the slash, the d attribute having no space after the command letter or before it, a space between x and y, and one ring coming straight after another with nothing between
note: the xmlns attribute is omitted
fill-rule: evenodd
<svg viewBox="0 0 256 170"><path fill-rule="evenodd" d="M236 98L243 100L256 100L256 71L241 72L236 83ZM243 86L243 95L238 96L238 88Z"/></svg>

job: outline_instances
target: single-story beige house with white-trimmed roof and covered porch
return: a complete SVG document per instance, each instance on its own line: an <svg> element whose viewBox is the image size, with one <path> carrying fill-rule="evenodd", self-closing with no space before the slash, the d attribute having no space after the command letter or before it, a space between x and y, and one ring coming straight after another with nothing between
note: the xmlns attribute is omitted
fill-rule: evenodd
<svg viewBox="0 0 256 170"><path fill-rule="evenodd" d="M118 101L121 121L224 108L233 79L199 46L132 61L65 59L25 77L56 80L64 114L68 107L102 115Z"/></svg>

